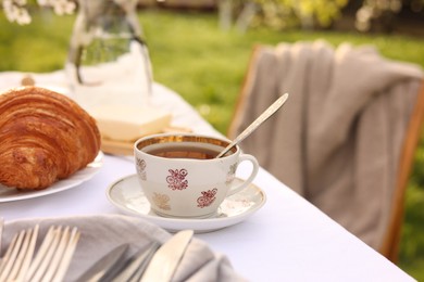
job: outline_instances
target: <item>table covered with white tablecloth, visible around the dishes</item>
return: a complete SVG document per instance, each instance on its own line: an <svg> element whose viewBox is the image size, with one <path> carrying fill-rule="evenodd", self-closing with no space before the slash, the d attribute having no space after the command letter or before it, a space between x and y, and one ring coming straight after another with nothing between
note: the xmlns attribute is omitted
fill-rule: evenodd
<svg viewBox="0 0 424 282"><path fill-rule="evenodd" d="M36 81L63 87L63 73L34 75ZM0 89L18 85L20 73L0 73ZM170 110L174 124L200 133L221 136L177 93L159 84L153 104ZM8 220L32 217L116 214L105 190L119 178L135 174L130 158L104 156L100 171L75 189L0 204ZM249 167L241 166L239 177ZM265 205L245 221L196 234L250 281L414 281L358 238L296 194L265 169L253 181L267 196Z"/></svg>

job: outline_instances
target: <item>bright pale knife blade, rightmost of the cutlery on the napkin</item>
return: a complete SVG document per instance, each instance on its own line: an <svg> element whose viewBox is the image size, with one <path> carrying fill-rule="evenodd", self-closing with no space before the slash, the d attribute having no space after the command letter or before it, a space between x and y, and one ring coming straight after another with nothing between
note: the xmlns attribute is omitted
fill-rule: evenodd
<svg viewBox="0 0 424 282"><path fill-rule="evenodd" d="M183 230L166 241L150 260L149 266L141 277L141 281L171 281L191 241L192 234L192 230Z"/></svg>

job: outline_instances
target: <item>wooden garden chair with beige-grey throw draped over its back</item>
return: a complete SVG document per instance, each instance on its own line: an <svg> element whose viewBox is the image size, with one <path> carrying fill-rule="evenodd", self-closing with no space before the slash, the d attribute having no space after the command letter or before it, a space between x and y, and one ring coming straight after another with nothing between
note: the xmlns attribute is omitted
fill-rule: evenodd
<svg viewBox="0 0 424 282"><path fill-rule="evenodd" d="M257 46L228 129L233 139L282 93L247 153L391 261L424 116L423 70L372 47Z"/></svg>

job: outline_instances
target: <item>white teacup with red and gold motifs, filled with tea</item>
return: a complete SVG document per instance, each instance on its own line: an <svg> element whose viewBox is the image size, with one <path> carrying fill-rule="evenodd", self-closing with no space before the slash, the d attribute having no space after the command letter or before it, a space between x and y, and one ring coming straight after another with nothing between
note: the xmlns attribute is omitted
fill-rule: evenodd
<svg viewBox="0 0 424 282"><path fill-rule="evenodd" d="M259 170L257 158L241 153L239 146L215 158L228 144L225 139L191 133L153 134L137 140L137 175L153 211L182 218L216 215L225 197L249 185ZM245 161L251 162L251 174L234 187L237 166Z"/></svg>

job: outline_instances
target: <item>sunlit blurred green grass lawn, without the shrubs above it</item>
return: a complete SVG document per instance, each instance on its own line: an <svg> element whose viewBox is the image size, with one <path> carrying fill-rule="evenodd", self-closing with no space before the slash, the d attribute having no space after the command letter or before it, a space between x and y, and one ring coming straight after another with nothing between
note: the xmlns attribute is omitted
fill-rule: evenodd
<svg viewBox="0 0 424 282"><path fill-rule="evenodd" d="M50 72L63 67L74 17L37 14L21 27L0 14L0 70ZM219 28L213 13L142 11L140 23L154 79L180 93L216 129L225 133L255 43L325 39L337 46L373 44L384 55L424 67L424 39L357 33L303 33L254 29L241 35ZM424 281L424 144L416 154L407 193L399 266Z"/></svg>

